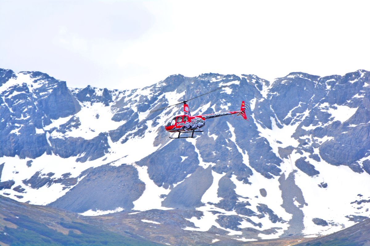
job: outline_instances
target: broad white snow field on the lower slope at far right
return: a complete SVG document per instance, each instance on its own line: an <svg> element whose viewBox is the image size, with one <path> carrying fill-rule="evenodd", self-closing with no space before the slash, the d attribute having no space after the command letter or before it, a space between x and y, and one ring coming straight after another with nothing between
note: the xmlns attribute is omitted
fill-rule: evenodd
<svg viewBox="0 0 370 246"><path fill-rule="evenodd" d="M370 208L370 204L357 205L349 202L350 197L352 201L361 200L358 194L363 195L363 199L370 198L369 174L355 173L347 166L333 166L324 160L317 162L310 159L308 155L308 153L305 155L307 161L313 164L320 174L310 177L300 170L295 173L295 182L302 190L308 204L301 208L305 214L304 224L306 226L303 233L317 236L328 235L355 224L349 221L346 215L370 216L370 212L364 212L365 208ZM292 153L293 162L301 156L296 152ZM322 182L327 183L327 188L318 186ZM360 211L357 207L364 208ZM330 227L315 225L312 222L313 218L324 219L328 223L332 222L333 225Z"/></svg>

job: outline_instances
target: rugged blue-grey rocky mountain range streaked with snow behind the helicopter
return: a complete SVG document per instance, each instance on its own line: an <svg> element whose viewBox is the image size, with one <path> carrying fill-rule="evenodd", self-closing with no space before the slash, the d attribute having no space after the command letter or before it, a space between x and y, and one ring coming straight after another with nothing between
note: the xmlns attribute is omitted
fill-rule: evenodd
<svg viewBox="0 0 370 246"><path fill-rule="evenodd" d="M225 85L189 101L192 115L245 100L249 122L208 119L195 139L169 139L164 125L182 106L150 113ZM273 83L172 75L120 91L0 69L0 142L4 196L83 215L159 209L167 223L178 211L174 231L214 235L206 243L327 235L370 216L365 70Z"/></svg>

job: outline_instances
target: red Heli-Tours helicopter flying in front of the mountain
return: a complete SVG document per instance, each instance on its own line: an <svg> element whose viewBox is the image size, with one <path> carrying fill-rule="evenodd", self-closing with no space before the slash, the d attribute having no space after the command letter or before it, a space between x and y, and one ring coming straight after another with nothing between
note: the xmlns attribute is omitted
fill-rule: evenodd
<svg viewBox="0 0 370 246"><path fill-rule="evenodd" d="M225 87L225 86L218 87L215 90L222 89L223 87ZM215 90L209 91L208 93L211 93ZM199 95L197 97L204 96L208 93ZM194 98L197 98L197 97L194 97ZM172 107L172 106L175 106L175 105L184 104L184 114L183 115L177 115L177 116L173 117L165 125L166 131L168 131L168 132L178 132L179 133L176 138L195 138L195 136L194 136L195 132L203 132L203 131L201 131L200 128L205 126L205 120L206 119L221 117L221 116L225 116L225 115L237 114L237 115L241 115L243 117L243 119L248 121L248 118L245 114L246 106L245 106L244 101L242 101L242 105L240 107L240 110L238 110L238 111L228 111L228 112L220 112L220 113L203 114L203 115L192 116L191 113L190 113L189 105L187 104L187 102L194 99L194 98L182 101L181 103L176 103L174 105L164 107L164 108L168 108L168 107ZM162 110L164 108L159 108L159 109L154 110L154 111L159 111L159 110ZM183 133L191 133L191 136L180 136L180 134L183 134ZM169 138L175 139L173 137L169 137Z"/></svg>

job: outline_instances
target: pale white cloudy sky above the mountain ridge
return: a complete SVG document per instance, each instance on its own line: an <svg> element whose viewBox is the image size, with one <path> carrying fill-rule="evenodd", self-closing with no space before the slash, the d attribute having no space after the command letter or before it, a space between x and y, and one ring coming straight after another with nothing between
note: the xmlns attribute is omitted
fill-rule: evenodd
<svg viewBox="0 0 370 246"><path fill-rule="evenodd" d="M0 67L70 87L370 70L370 1L0 0Z"/></svg>

